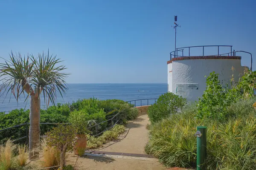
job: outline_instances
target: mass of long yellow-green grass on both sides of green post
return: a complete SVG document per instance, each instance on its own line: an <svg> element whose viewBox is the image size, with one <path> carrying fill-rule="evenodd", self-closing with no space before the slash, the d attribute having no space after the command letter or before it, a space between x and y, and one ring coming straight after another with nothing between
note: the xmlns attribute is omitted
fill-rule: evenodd
<svg viewBox="0 0 256 170"><path fill-rule="evenodd" d="M167 167L195 167L196 127L207 126L207 170L253 170L256 162L256 99L241 100L227 108L226 121L195 119L197 107L187 105L179 114L151 126L148 154ZM232 115L232 116L231 116Z"/></svg>

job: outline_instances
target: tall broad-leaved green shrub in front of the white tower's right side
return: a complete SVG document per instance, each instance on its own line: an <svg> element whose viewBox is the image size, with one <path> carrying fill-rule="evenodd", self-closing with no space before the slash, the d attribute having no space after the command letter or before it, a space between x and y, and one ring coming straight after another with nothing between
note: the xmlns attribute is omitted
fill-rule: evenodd
<svg viewBox="0 0 256 170"><path fill-rule="evenodd" d="M197 118L211 118L224 120L228 115L228 108L232 103L239 99L250 99L253 97L254 88L256 88L256 71L245 72L239 79L234 82L231 79L230 88L223 88L218 79L219 74L210 73L207 77L207 88L198 101Z"/></svg>

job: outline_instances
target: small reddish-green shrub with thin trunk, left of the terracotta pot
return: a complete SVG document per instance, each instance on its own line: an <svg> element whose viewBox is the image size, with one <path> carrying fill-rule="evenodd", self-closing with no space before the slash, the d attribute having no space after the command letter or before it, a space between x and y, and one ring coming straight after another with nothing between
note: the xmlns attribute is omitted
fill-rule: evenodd
<svg viewBox="0 0 256 170"><path fill-rule="evenodd" d="M47 145L55 147L60 152L60 170L63 170L66 164L66 152L73 149L73 142L76 137L76 130L72 125L58 125L47 132Z"/></svg>

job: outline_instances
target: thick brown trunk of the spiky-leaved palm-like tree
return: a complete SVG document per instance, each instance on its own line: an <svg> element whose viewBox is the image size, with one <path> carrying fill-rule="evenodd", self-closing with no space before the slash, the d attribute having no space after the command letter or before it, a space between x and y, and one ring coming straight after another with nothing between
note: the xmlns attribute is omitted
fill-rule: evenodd
<svg viewBox="0 0 256 170"><path fill-rule="evenodd" d="M39 153L35 148L40 142L40 97L30 95L30 126L29 126L29 159L38 158Z"/></svg>

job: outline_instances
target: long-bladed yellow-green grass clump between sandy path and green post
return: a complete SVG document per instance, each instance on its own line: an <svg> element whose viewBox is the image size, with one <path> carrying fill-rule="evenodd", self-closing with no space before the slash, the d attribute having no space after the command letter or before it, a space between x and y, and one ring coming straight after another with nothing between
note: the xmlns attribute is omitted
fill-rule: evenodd
<svg viewBox="0 0 256 170"><path fill-rule="evenodd" d="M159 158L167 167L192 167L196 162L196 138L193 134L199 120L195 120L195 105L187 106L182 113L151 126L146 152Z"/></svg>

